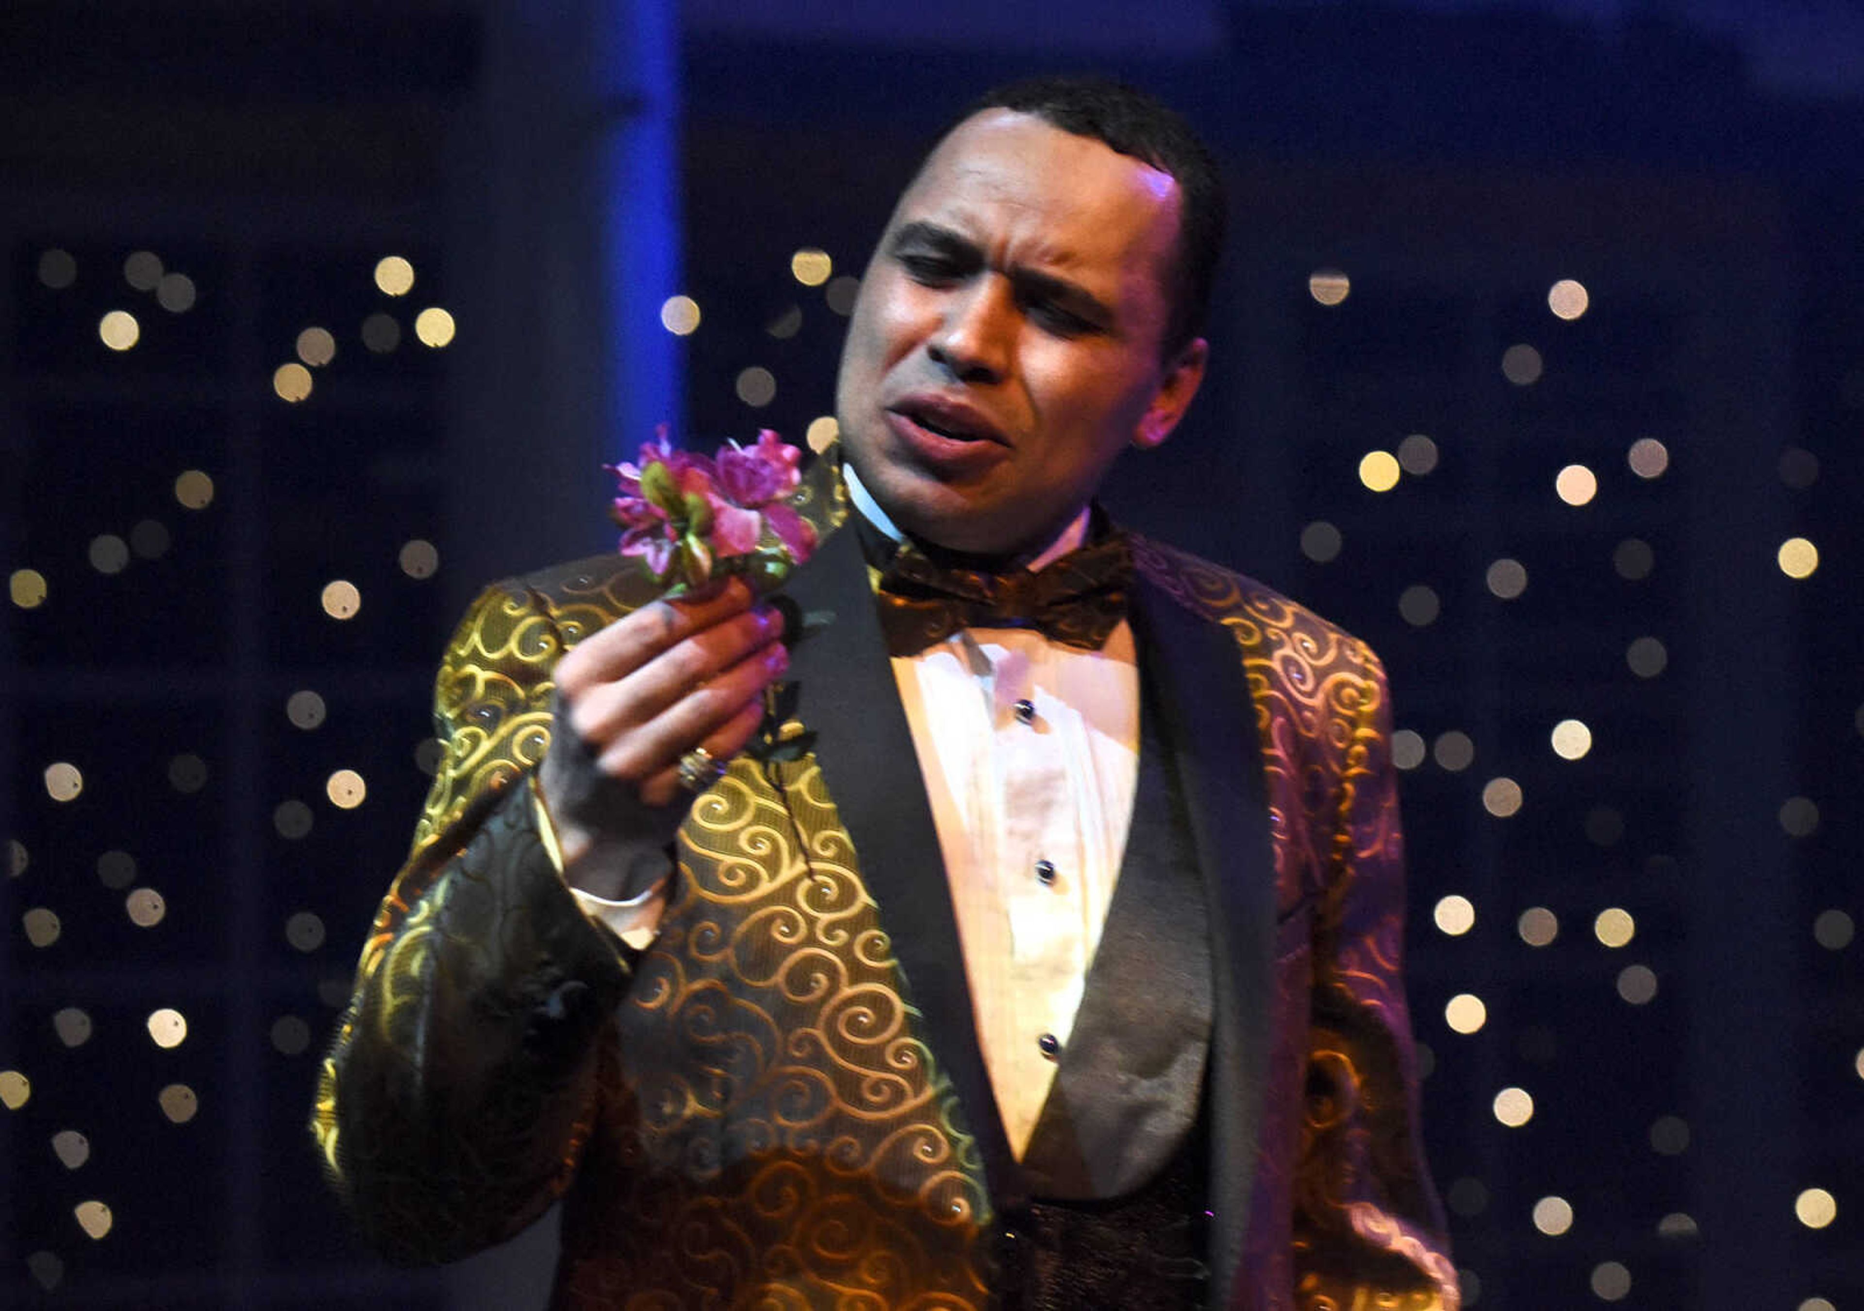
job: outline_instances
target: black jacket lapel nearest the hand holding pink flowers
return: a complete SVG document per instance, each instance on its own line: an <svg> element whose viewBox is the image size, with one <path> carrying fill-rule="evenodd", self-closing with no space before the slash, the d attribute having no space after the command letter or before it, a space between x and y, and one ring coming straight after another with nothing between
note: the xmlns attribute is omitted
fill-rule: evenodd
<svg viewBox="0 0 1864 1311"><path fill-rule="evenodd" d="M852 524L822 541L785 595L796 608L792 623L800 617L803 628L790 642L792 712L815 733L828 793L880 904L932 1056L964 1106L992 1197L999 1207L1020 1205L1021 1171L977 1042L938 830Z"/></svg>

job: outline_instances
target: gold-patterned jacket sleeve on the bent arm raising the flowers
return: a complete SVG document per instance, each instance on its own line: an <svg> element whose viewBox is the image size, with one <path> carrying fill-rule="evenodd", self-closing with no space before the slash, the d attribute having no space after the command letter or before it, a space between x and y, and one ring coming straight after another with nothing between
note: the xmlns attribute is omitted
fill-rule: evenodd
<svg viewBox="0 0 1864 1311"><path fill-rule="evenodd" d="M561 651L516 586L460 621L434 686L442 766L322 1063L311 1132L391 1261L518 1233L569 1186L593 1123L628 955L582 914L537 824Z"/></svg>

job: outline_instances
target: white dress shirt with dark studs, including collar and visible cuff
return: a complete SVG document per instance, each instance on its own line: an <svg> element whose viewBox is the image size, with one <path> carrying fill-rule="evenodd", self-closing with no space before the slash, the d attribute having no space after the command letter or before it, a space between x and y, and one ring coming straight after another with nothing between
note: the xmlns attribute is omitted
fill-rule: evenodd
<svg viewBox="0 0 1864 1311"><path fill-rule="evenodd" d="M854 505L898 528L844 468ZM1083 509L1042 569L1087 537ZM1029 628L962 628L893 677L951 886L977 1039L1020 1158L1055 1082L1113 903L1139 774L1139 664L1120 623L1100 651ZM660 884L634 901L572 890L630 945L652 942Z"/></svg>

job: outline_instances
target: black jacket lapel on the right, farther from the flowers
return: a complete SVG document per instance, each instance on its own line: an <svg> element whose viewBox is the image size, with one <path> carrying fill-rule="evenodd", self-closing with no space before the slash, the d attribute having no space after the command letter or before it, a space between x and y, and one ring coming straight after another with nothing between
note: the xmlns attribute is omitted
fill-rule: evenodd
<svg viewBox="0 0 1864 1311"><path fill-rule="evenodd" d="M1178 759L1210 914L1210 1304L1227 1305L1249 1227L1275 964L1262 746L1241 653L1225 625L1191 614L1141 574L1133 636Z"/></svg>

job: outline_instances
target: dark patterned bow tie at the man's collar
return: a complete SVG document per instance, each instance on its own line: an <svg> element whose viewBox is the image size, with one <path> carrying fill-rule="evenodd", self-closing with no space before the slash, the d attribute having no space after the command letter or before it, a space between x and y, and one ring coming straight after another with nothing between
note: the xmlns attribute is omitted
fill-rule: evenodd
<svg viewBox="0 0 1864 1311"><path fill-rule="evenodd" d="M1131 582L1133 552L1122 531L1035 573L951 569L902 546L880 576L880 621L897 656L958 628L1038 628L1051 642L1098 651L1126 617Z"/></svg>

